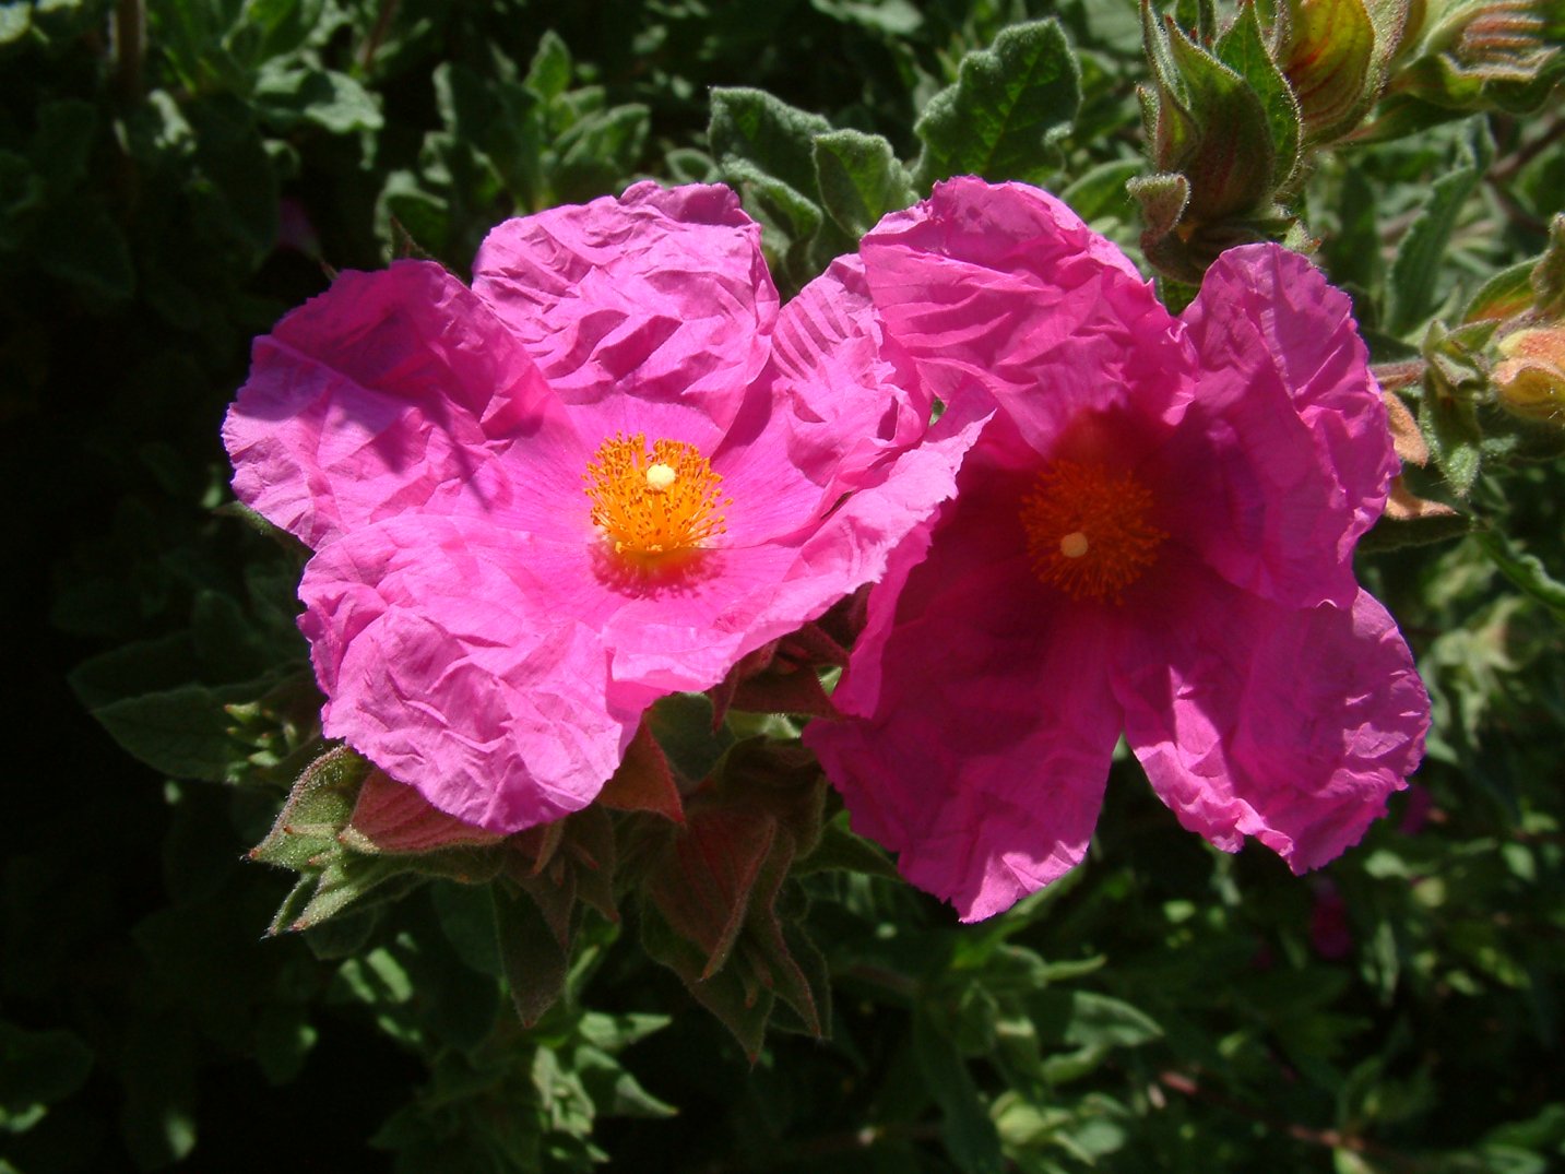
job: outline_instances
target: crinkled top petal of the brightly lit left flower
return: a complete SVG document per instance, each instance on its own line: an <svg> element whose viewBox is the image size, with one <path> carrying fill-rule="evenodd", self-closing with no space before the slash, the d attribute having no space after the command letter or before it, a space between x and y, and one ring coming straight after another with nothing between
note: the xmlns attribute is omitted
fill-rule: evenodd
<svg viewBox="0 0 1565 1174"><path fill-rule="evenodd" d="M473 274L549 385L590 409L577 426L592 446L670 429L714 446L767 363L778 315L761 229L721 186L637 183L505 221Z"/></svg>

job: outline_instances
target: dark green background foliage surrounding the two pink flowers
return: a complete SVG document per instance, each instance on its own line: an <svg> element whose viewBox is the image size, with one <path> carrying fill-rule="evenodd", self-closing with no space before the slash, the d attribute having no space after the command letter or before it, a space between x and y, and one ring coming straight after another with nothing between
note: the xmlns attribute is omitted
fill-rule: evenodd
<svg viewBox="0 0 1565 1174"><path fill-rule="evenodd" d="M997 100L983 70L1025 133L975 163L947 124ZM952 171L1045 182L1139 255L1146 78L1113 0L0 5L0 1169L1554 1168L1565 479L1488 404L1408 474L1462 524L1366 543L1437 728L1321 873L1207 848L1119 762L1088 864L994 922L803 877L829 1041L754 1063L601 919L532 1028L480 889L263 938L290 877L243 855L297 745L224 706L305 651L299 551L224 509L254 335L335 269L465 274L504 216L646 175L736 183L784 293ZM1318 157L1293 210L1377 358L1543 249L1546 111ZM847 185L826 131L859 131L828 139Z"/></svg>

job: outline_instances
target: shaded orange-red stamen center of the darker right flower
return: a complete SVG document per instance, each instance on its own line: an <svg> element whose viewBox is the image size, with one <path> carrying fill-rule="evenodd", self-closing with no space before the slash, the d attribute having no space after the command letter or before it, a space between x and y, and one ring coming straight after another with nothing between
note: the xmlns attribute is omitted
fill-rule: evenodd
<svg viewBox="0 0 1565 1174"><path fill-rule="evenodd" d="M1033 571L1072 600L1119 603L1167 537L1147 523L1150 509L1152 493L1131 474L1056 460L1022 498Z"/></svg>

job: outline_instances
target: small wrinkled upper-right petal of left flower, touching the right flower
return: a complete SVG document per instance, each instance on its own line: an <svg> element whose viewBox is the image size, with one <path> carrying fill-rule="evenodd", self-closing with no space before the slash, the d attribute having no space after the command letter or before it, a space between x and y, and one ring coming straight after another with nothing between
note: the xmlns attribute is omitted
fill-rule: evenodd
<svg viewBox="0 0 1565 1174"><path fill-rule="evenodd" d="M782 307L775 399L792 413L789 463L851 488L928 427L933 396L883 337L858 257L839 257Z"/></svg>

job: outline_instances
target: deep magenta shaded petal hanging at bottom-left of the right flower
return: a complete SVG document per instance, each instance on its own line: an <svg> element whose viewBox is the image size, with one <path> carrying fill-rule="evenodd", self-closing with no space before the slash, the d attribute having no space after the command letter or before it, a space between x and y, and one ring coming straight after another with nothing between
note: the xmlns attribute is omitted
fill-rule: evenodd
<svg viewBox="0 0 1565 1174"><path fill-rule="evenodd" d="M854 830L962 920L1081 861L1121 728L1103 670L1111 632L1039 607L1014 532L1024 488L964 484L923 560L897 556L870 592L872 626L890 592L895 623L854 646L833 695L850 717L804 729Z"/></svg>

